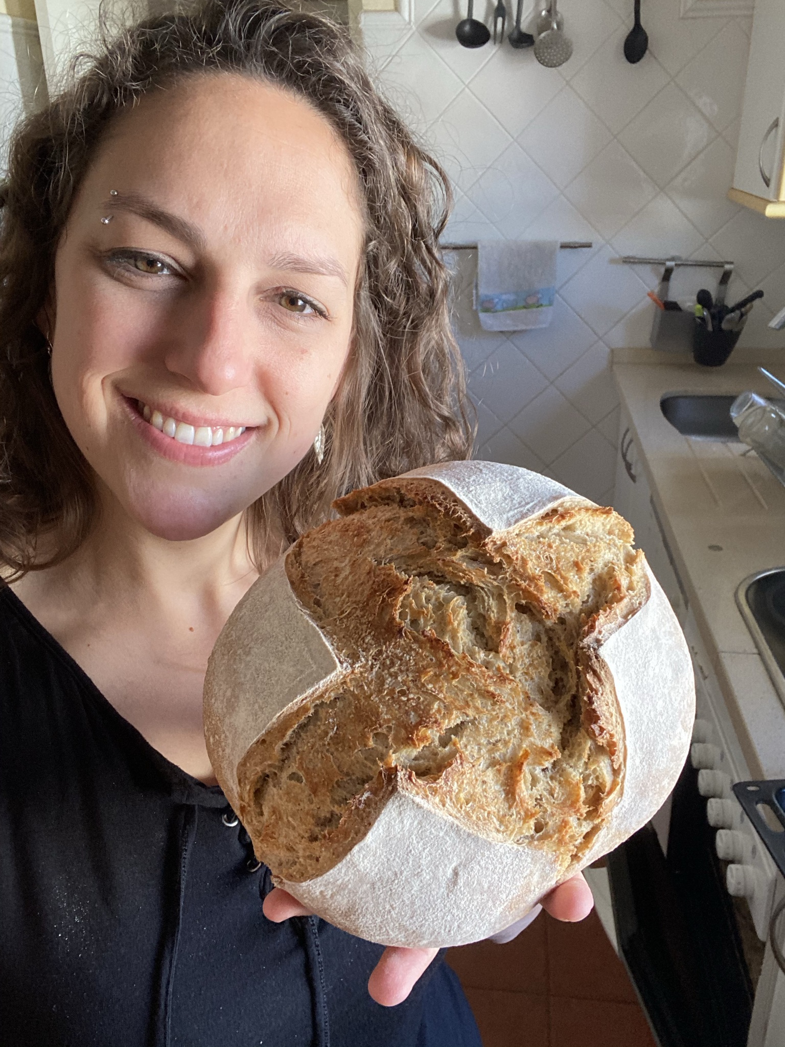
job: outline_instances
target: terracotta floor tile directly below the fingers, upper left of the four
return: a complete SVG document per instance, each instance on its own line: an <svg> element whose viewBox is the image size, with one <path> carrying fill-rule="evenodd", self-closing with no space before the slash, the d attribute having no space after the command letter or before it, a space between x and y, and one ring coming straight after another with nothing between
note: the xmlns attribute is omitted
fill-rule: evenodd
<svg viewBox="0 0 785 1047"><path fill-rule="evenodd" d="M477 941L447 953L447 962L464 988L507 989L545 995L548 992L545 917L504 945Z"/></svg>

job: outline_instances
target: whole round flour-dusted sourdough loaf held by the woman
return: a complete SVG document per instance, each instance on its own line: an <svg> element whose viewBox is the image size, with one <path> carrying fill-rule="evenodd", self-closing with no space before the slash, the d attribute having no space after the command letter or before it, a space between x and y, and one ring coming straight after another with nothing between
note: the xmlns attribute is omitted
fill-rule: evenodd
<svg viewBox="0 0 785 1047"><path fill-rule="evenodd" d="M204 691L274 882L352 934L494 934L629 837L687 756L692 666L632 530L453 462L336 503L240 602Z"/></svg>

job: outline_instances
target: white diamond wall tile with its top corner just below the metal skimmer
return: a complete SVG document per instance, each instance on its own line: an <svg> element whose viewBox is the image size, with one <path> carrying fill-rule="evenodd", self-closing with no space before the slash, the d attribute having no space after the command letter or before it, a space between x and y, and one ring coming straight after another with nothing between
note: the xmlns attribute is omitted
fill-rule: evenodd
<svg viewBox="0 0 785 1047"><path fill-rule="evenodd" d="M518 142L559 188L563 188L610 138L602 120L569 86L565 86L529 125Z"/></svg>

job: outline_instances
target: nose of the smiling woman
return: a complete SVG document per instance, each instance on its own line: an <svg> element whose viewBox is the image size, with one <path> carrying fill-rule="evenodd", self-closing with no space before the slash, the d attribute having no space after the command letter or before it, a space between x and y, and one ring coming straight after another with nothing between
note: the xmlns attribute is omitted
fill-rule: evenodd
<svg viewBox="0 0 785 1047"><path fill-rule="evenodd" d="M241 295L203 293L178 316L164 362L194 388L221 396L250 381L254 334L252 311Z"/></svg>

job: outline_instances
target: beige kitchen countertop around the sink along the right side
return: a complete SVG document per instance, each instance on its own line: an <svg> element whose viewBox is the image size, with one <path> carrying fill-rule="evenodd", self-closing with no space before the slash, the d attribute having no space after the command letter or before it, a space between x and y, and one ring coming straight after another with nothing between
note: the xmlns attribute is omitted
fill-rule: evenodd
<svg viewBox="0 0 785 1047"><path fill-rule="evenodd" d="M785 708L735 600L747 576L785 565L785 487L742 444L688 439L666 421L668 393L771 395L750 354L698 367L652 350L614 355L613 374L674 565L754 777L785 778ZM754 360L785 379L785 354ZM776 361L780 361L779 363Z"/></svg>

